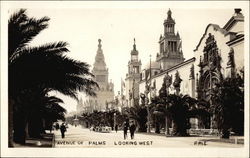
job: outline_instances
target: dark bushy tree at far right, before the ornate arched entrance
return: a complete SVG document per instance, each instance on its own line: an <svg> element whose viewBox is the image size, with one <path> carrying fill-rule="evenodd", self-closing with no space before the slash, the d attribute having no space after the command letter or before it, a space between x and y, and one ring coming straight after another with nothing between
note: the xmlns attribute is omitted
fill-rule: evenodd
<svg viewBox="0 0 250 158"><path fill-rule="evenodd" d="M230 128L236 134L244 132L244 80L238 74L217 84L212 95L215 120L222 138L229 138ZM233 119L232 119L233 118Z"/></svg>

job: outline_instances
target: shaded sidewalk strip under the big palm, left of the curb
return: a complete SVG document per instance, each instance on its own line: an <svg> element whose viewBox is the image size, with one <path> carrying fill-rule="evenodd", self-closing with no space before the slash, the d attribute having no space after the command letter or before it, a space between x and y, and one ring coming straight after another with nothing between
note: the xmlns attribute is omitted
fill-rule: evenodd
<svg viewBox="0 0 250 158"><path fill-rule="evenodd" d="M26 139L25 145L14 143L14 148L52 148L54 147L55 136L54 133L42 134L41 139L39 138L28 138Z"/></svg>

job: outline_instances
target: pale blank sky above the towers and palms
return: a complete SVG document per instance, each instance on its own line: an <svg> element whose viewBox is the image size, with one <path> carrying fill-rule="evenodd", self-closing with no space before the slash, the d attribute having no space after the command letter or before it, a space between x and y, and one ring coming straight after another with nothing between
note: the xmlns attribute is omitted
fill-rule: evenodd
<svg viewBox="0 0 250 158"><path fill-rule="evenodd" d="M47 2L46 2L47 3ZM133 39L139 51L139 59L144 65L149 62L149 56L155 60L159 52L158 40L163 34L163 22L167 18L169 8L175 19L175 30L182 39L182 50L185 59L192 58L193 50L199 43L209 23L223 27L232 17L234 7L227 7L226 3L204 2L198 3L170 3L157 2L154 4L101 3L100 5L86 3L56 3L49 4L26 2L9 4L9 14L18 8L27 8L28 16L50 18L49 27L42 31L31 43L32 46L55 41L69 43L70 52L67 56L93 65L98 39L102 40L102 49L106 65L109 69L109 80L114 82L115 95L120 91L121 78L125 79L133 48ZM223 3L224 5L221 5ZM81 4L81 5L80 5ZM193 5L192 5L193 4ZM221 6L221 7L220 7ZM222 7L223 6L223 7ZM237 7L237 5L235 5ZM242 11L244 14L244 10ZM63 98L63 105L68 112L76 109L76 101L53 93ZM84 96L80 94L79 96Z"/></svg>

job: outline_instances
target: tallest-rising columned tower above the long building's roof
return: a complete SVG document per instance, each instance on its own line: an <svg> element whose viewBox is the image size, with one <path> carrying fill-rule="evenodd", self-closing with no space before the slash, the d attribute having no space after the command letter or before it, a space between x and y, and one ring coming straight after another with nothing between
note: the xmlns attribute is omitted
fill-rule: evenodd
<svg viewBox="0 0 250 158"><path fill-rule="evenodd" d="M163 23L164 35L160 35L159 39L160 53L156 56L161 70L167 70L184 61L181 38L178 32L175 33L175 20L170 9L167 14Z"/></svg>

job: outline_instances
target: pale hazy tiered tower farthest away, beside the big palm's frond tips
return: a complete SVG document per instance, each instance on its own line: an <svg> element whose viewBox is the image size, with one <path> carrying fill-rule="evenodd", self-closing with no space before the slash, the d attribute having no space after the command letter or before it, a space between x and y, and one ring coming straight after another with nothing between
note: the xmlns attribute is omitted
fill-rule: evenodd
<svg viewBox="0 0 250 158"><path fill-rule="evenodd" d="M100 89L96 90L96 97L88 96L85 100L84 107L87 112L93 112L93 110L104 111L107 109L108 103L114 100L114 84L108 81L109 73L104 59L101 39L98 42L98 50L92 73Z"/></svg>

